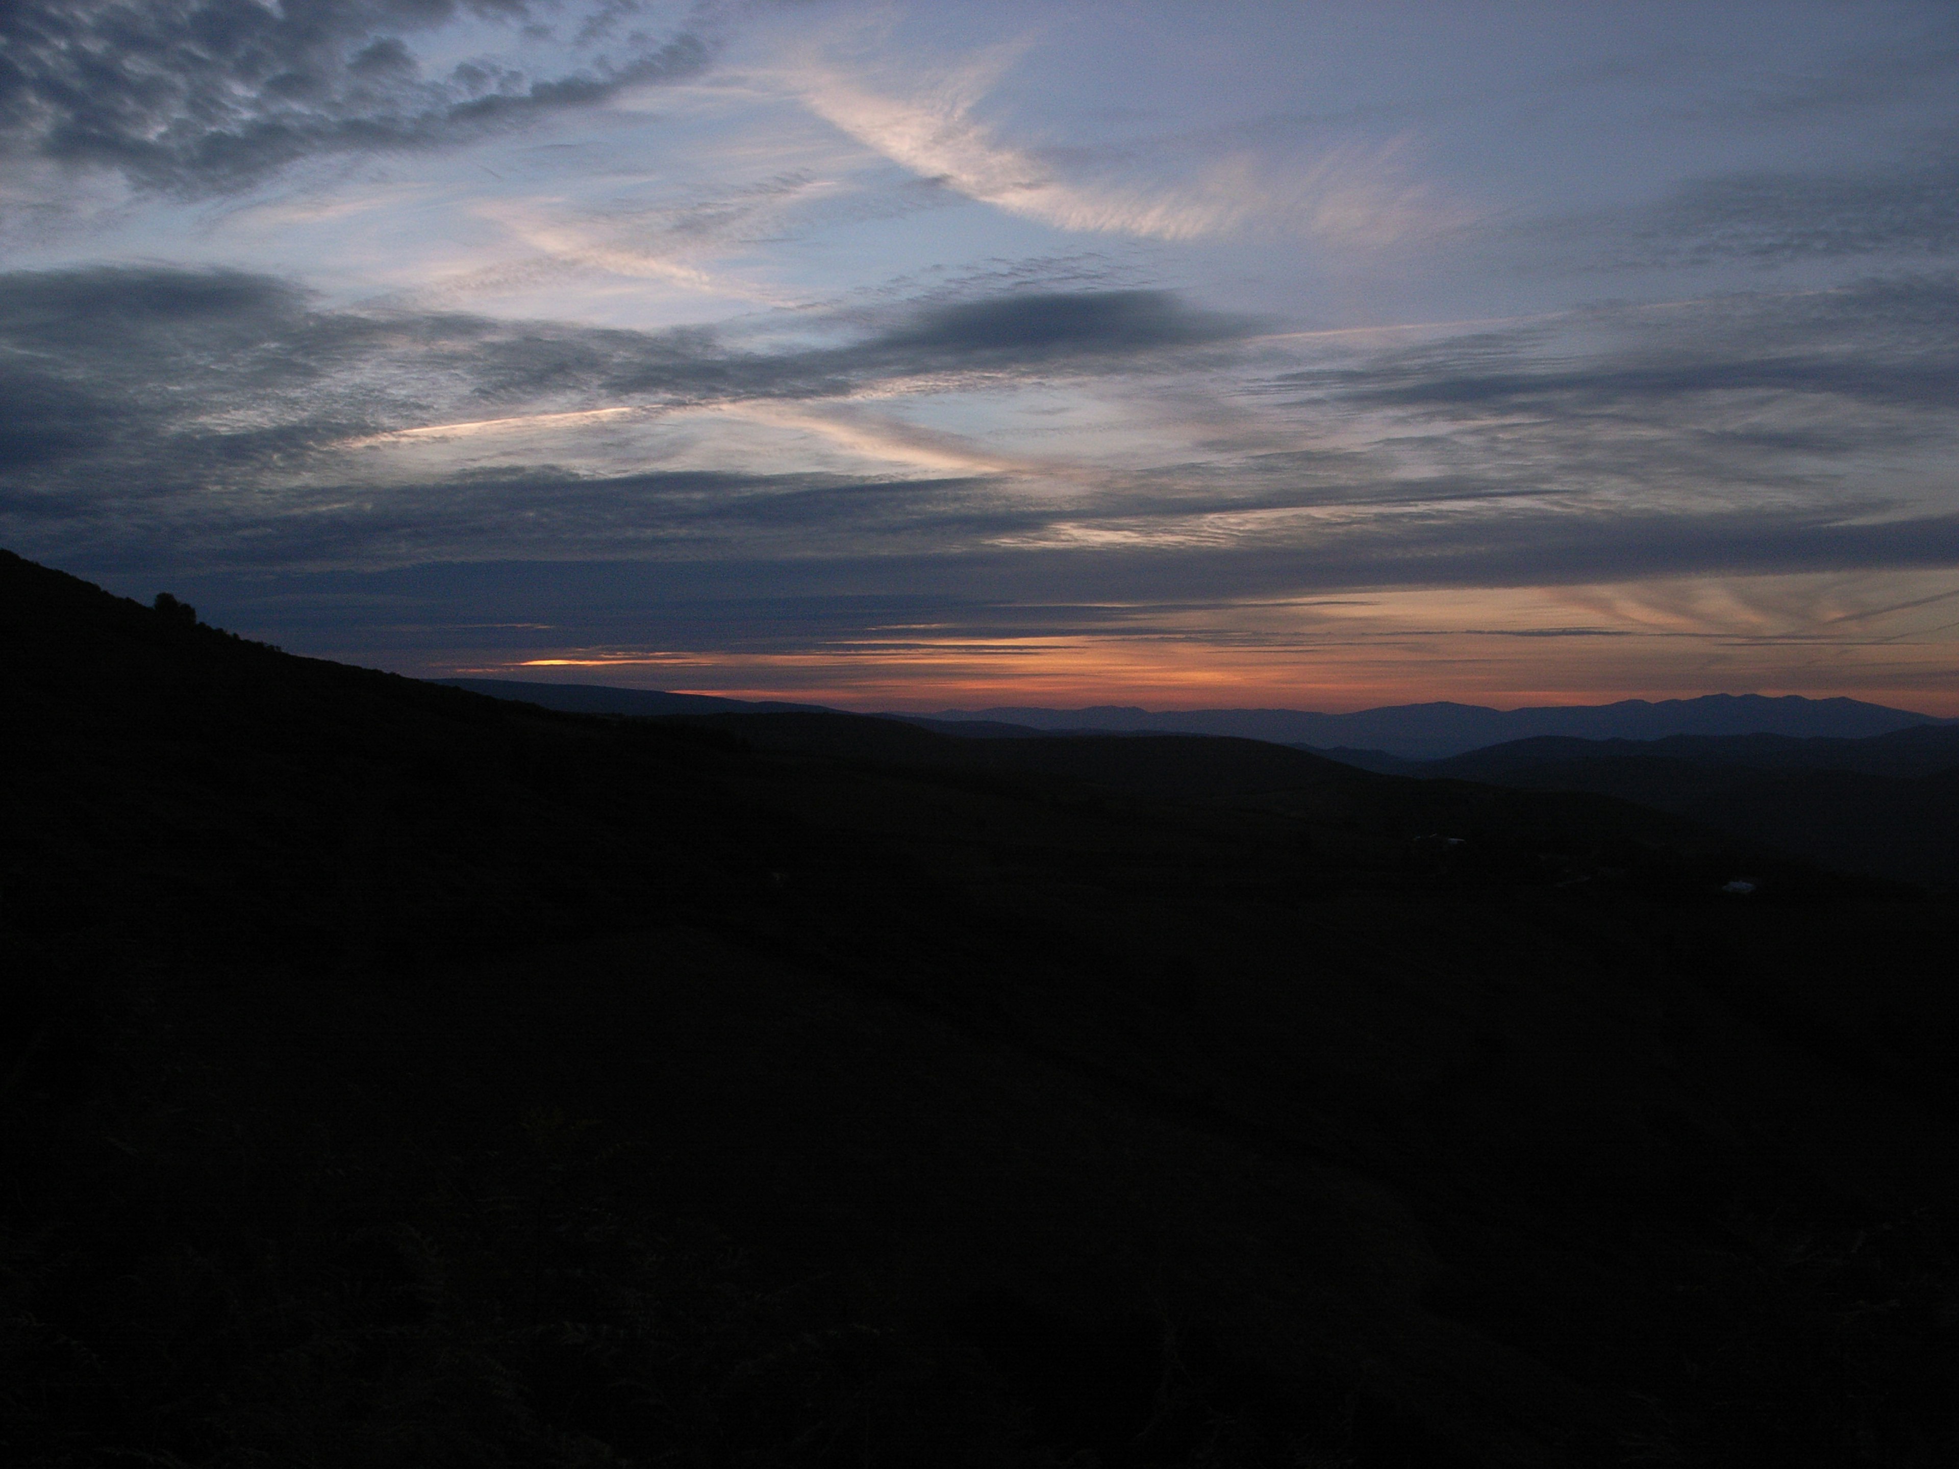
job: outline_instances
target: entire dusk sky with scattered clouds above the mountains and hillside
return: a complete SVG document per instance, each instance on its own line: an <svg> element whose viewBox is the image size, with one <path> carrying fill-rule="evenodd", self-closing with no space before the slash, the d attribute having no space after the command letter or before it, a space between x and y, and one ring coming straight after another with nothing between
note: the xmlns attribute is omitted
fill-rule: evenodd
<svg viewBox="0 0 1959 1469"><path fill-rule="evenodd" d="M1951 4L12 0L0 545L856 709L1959 715Z"/></svg>

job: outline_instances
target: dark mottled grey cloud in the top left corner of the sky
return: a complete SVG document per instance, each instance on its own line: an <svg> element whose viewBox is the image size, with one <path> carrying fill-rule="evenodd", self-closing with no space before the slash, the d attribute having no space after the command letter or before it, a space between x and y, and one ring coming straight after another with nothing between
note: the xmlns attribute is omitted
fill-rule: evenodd
<svg viewBox="0 0 1959 1469"><path fill-rule="evenodd" d="M631 12L635 6L613 6ZM423 149L699 72L705 10L666 37L537 76L490 63L423 74L411 41L456 20L552 18L531 0L12 0L0 6L0 149L116 168L184 194L298 159Z"/></svg>

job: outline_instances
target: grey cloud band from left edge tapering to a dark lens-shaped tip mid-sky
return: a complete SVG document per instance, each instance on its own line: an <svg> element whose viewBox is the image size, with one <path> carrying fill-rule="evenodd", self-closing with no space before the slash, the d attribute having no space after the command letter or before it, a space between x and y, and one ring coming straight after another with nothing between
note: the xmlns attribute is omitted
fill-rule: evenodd
<svg viewBox="0 0 1959 1469"><path fill-rule="evenodd" d="M80 494L270 468L443 417L823 398L925 370L1134 362L1240 323L1162 292L1013 296L929 309L848 347L742 353L703 329L607 331L464 313L319 311L233 270L0 274L0 474Z"/></svg>

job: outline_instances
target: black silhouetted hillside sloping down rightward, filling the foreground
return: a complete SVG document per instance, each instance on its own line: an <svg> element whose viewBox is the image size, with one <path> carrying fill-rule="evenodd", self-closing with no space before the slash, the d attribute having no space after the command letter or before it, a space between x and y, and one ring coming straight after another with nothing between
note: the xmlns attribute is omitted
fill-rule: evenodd
<svg viewBox="0 0 1959 1469"><path fill-rule="evenodd" d="M1949 899L16 558L0 637L4 1463L1955 1461Z"/></svg>

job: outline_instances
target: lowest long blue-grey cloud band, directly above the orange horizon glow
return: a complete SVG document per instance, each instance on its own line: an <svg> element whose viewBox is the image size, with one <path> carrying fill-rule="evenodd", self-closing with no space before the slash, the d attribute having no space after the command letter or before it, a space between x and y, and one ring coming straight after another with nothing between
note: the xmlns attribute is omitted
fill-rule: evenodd
<svg viewBox="0 0 1959 1469"><path fill-rule="evenodd" d="M1395 586L1548 586L1601 576L1843 572L1959 564L1959 517L1843 525L1818 515L1728 515L1698 523L1622 515L1597 523L1516 515L1356 533L1316 546L1248 550L915 548L874 556L423 562L376 572L184 574L104 562L133 593L165 584L221 623L288 646L415 666L470 648L688 648L695 654L931 650L938 639L1003 654L1021 639L1170 637L1230 646L1311 642L1311 629L1193 621L1258 597ZM165 576L165 580L159 580ZM1436 629L1516 637L1602 637L1616 629ZM1334 639L1348 635L1338 629ZM976 648L981 656L983 648ZM574 678L603 680L599 670ZM631 674L629 674L631 678ZM672 682L672 680L666 680ZM682 676L686 682L686 676Z"/></svg>

